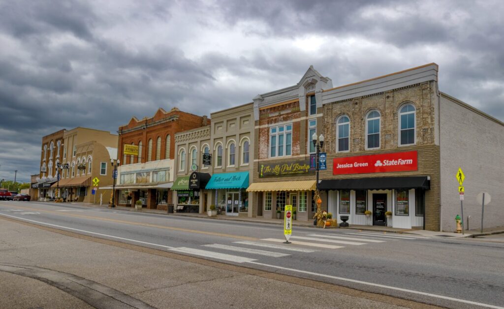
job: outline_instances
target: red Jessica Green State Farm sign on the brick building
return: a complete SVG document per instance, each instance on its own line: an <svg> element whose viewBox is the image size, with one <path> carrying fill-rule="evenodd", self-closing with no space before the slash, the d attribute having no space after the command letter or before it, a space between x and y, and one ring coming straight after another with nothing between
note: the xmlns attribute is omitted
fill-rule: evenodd
<svg viewBox="0 0 504 309"><path fill-rule="evenodd" d="M333 159L333 175L418 170L416 151Z"/></svg>

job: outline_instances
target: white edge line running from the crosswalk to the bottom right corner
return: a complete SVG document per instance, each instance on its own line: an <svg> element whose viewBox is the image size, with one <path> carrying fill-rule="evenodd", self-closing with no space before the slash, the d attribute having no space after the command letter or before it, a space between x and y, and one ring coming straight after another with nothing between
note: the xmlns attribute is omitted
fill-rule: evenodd
<svg viewBox="0 0 504 309"><path fill-rule="evenodd" d="M372 283L372 282L366 282L366 281L360 281L360 280L354 280L354 279L336 277L336 276L331 276L331 275L326 275L326 274L313 273L313 272L308 272L308 271L299 270L299 269L293 269L293 268L287 268L287 267L281 267L281 266L275 266L275 265L268 265L268 264L258 263L258 262L254 262L254 261L247 262L247 263L255 264L255 265L261 265L261 266L266 266L266 267L272 267L272 268L277 268L277 269L283 269L283 270L288 270L288 271L292 271L292 272L296 272L296 273L302 273L302 274L307 274L307 275L312 275L312 276L331 278L331 279L336 279L336 280L341 280L341 281L347 281L347 282L353 282L353 283L359 283L359 284L364 284L364 285L370 285L370 286L375 286L375 287L380 287L380 288L386 288L386 289L391 289L391 290L396 290L396 291L401 291L401 292L407 292L407 293L413 293L413 294L418 294L418 295L430 296L430 297L441 298L441 299L446 299L446 300L452 300L452 301L457 301L457 302L463 302L463 303L468 303L468 304L478 305L478 306L483 306L483 307L488 307L488 308L504 309L504 307L499 307L499 306L495 306L495 305L491 305L491 304L486 304L486 303L481 303L481 302L476 302L476 301L471 301L471 300L465 300L465 299L459 299L459 298L453 298L453 297L449 297L449 296L431 294L431 293L426 293L426 292L421 292L421 291L403 289L403 288L400 288L400 287L395 287L395 286L390 286L390 285L383 285L383 284L377 284L377 283Z"/></svg>

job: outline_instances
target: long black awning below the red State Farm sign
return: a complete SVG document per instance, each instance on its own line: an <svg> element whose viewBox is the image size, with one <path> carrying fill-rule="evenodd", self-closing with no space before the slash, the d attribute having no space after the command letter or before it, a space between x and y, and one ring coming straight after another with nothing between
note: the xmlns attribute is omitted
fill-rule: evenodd
<svg viewBox="0 0 504 309"><path fill-rule="evenodd" d="M391 190L391 189L423 189L430 190L430 180L427 176L404 177L369 177L326 179L319 183L320 190Z"/></svg>

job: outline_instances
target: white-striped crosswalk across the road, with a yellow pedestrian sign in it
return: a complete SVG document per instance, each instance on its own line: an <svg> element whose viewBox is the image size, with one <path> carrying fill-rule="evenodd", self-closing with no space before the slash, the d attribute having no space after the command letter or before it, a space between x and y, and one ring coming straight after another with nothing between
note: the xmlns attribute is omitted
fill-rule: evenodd
<svg viewBox="0 0 504 309"><path fill-rule="evenodd" d="M172 248L170 251L227 262L246 263L260 258L286 258L295 254L314 253L321 250L338 250L348 246L362 246L397 240L415 240L430 237L416 235L385 235L375 232L344 232L340 234L312 233L292 235L291 244L283 238L262 238L259 241L240 240L230 244L202 244L204 249ZM299 239L299 240L298 240ZM282 244L280 244L282 243ZM241 255L236 255L241 254ZM244 255L244 256L243 256Z"/></svg>

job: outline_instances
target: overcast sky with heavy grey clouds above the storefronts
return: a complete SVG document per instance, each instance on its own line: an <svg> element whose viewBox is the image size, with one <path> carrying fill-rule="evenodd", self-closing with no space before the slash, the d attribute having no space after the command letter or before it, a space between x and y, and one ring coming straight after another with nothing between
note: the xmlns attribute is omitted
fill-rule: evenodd
<svg viewBox="0 0 504 309"><path fill-rule="evenodd" d="M439 88L504 120L504 2L0 0L0 178L41 138L115 132L163 107L209 114L291 86L435 62Z"/></svg>

